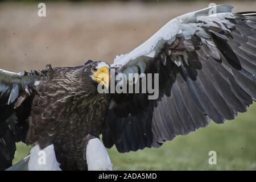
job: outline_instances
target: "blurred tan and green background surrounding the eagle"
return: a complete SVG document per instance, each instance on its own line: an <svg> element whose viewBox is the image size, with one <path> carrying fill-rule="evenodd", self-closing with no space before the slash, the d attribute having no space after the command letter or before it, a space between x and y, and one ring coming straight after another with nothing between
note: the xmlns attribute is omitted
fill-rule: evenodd
<svg viewBox="0 0 256 182"><path fill-rule="evenodd" d="M46 3L46 17L38 3ZM213 1L0 1L0 68L19 72L81 65L86 60L112 63L150 38L177 15ZM255 11L256 1L214 1L233 11ZM115 170L255 170L256 105L224 125L211 123L157 149L119 154L109 150ZM30 147L17 144L14 163ZM209 165L209 151L217 165Z"/></svg>

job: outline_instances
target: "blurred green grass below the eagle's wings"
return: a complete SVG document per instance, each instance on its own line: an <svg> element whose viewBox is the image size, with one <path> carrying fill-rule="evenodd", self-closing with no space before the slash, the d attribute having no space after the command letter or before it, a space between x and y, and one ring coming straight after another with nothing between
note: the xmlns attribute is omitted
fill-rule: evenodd
<svg viewBox="0 0 256 182"><path fill-rule="evenodd" d="M211 122L187 136L176 137L160 148L119 154L108 150L114 170L256 170L256 104L247 113L222 125ZM17 144L14 163L28 154ZM209 151L217 152L217 165L209 165Z"/></svg>

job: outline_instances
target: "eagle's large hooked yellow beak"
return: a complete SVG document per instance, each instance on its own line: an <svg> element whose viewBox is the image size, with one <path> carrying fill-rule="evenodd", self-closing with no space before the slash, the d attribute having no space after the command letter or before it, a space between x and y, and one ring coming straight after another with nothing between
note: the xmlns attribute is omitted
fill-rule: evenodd
<svg viewBox="0 0 256 182"><path fill-rule="evenodd" d="M98 69L94 75L92 76L94 80L98 81L100 84L103 84L106 86L106 88L109 88L109 82L110 82L110 73L109 68L104 66Z"/></svg>

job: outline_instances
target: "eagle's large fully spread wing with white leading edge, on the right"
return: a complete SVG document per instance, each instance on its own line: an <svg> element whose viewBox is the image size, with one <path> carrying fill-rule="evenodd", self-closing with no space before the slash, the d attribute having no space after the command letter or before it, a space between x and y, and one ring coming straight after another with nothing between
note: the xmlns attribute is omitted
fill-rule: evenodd
<svg viewBox="0 0 256 182"><path fill-rule="evenodd" d="M212 8L217 14L209 15ZM159 147L177 135L223 123L256 98L256 13L220 5L172 19L127 55L117 72L159 73L159 97L112 94L102 129L119 152ZM128 77L128 76L127 76Z"/></svg>

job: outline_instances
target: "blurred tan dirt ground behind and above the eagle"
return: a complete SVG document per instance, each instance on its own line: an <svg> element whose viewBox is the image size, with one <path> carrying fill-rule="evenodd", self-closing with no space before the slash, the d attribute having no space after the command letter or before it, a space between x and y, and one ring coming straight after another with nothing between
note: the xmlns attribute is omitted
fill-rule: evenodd
<svg viewBox="0 0 256 182"><path fill-rule="evenodd" d="M219 2L220 3L220 2ZM256 1L221 2L234 11L256 10ZM0 68L10 71L81 65L128 53L168 20L209 5L189 3L0 3Z"/></svg>

